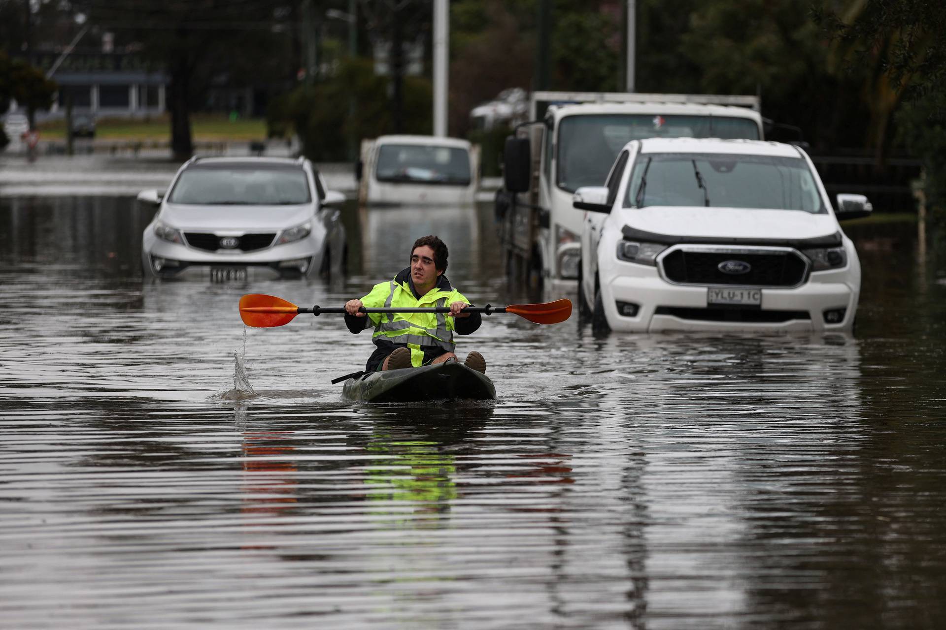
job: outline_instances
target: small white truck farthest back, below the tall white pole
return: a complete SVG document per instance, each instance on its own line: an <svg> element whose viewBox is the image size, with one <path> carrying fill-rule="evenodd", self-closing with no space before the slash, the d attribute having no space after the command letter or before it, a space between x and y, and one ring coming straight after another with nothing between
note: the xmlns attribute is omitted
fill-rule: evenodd
<svg viewBox="0 0 946 630"><path fill-rule="evenodd" d="M465 140L381 136L361 146L359 201L384 204L472 203L479 153Z"/></svg>

